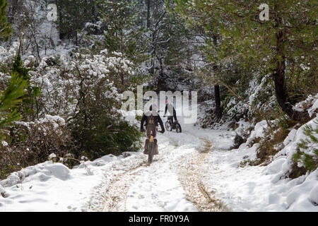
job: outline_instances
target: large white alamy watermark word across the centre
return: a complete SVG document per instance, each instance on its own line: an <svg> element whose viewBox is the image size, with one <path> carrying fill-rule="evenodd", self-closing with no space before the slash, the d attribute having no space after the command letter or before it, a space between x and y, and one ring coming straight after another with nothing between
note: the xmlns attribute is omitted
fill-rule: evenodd
<svg viewBox="0 0 318 226"><path fill-rule="evenodd" d="M153 114L162 116L165 114L165 106L168 104L175 107L177 116L183 117L184 124L196 123L198 117L198 94L196 91L191 92L191 101L189 100L189 91L183 91L182 93L180 91L175 93L160 91L159 94L154 91L148 91L143 94L143 85L137 86L137 96L131 91L125 91L122 95L122 100L126 100L122 105L122 110L134 112L135 116L147 114L153 105L158 106L158 112L153 112ZM171 115L172 111L170 110L169 112Z"/></svg>

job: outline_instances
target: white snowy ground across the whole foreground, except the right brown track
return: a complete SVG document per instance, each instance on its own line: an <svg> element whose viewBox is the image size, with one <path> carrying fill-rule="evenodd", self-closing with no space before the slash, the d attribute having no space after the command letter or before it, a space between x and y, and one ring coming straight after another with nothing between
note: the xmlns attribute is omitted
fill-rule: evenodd
<svg viewBox="0 0 318 226"><path fill-rule="evenodd" d="M158 135L160 155L150 167L139 152L107 155L75 169L48 161L13 173L0 181L0 211L198 211L180 172L192 169L189 162L205 141L213 147L198 162L199 181L223 210L318 211L318 170L281 179L301 129L291 132L270 165L242 168L242 160L255 158L257 145L229 150L234 131L182 127L182 133Z"/></svg>

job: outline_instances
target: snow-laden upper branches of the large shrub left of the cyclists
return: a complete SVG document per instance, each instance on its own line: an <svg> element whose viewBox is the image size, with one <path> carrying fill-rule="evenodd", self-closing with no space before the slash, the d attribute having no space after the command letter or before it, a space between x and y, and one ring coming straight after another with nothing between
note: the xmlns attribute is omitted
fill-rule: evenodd
<svg viewBox="0 0 318 226"><path fill-rule="evenodd" d="M130 61L107 50L93 56L64 54L43 58L32 72L32 80L42 88L40 102L45 114L73 116L84 96L93 101L108 96L120 103L119 93L129 86L134 75L131 66Z"/></svg>

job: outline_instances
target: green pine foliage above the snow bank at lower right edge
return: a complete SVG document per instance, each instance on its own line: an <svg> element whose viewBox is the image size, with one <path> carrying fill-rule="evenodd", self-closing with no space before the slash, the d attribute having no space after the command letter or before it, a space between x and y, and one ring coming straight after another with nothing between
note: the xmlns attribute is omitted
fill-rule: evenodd
<svg viewBox="0 0 318 226"><path fill-rule="evenodd" d="M318 119L314 121L315 128L306 125L304 130L307 138L300 140L298 151L293 155L293 160L302 164L307 171L314 171L318 167Z"/></svg>

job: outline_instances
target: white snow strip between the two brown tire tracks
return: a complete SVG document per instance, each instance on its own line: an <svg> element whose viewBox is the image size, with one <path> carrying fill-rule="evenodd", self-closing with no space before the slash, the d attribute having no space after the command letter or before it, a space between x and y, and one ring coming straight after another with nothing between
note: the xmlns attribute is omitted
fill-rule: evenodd
<svg viewBox="0 0 318 226"><path fill-rule="evenodd" d="M150 167L142 168L134 178L126 199L119 203L120 211L195 211L193 203L187 201L175 162L184 153L175 151L170 139L160 148L159 156Z"/></svg>

